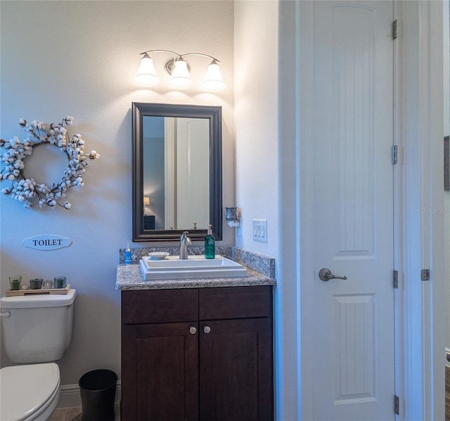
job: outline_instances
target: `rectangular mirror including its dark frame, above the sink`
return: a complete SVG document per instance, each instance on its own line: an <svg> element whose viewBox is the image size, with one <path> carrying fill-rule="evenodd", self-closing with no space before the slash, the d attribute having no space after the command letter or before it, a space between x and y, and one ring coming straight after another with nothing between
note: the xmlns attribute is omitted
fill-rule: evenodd
<svg viewBox="0 0 450 421"><path fill-rule="evenodd" d="M221 107L131 105L133 241L221 240Z"/></svg>

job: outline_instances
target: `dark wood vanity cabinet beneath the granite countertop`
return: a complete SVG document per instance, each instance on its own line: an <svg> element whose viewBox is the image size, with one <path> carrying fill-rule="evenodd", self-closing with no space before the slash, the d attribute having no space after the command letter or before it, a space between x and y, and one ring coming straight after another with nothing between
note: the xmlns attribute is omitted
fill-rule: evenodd
<svg viewBox="0 0 450 421"><path fill-rule="evenodd" d="M122 291L122 421L273 420L271 286Z"/></svg>

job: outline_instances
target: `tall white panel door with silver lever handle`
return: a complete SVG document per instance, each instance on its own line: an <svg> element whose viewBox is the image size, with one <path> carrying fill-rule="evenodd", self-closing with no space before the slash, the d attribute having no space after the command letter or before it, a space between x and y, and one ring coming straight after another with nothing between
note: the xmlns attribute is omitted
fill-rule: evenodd
<svg viewBox="0 0 450 421"><path fill-rule="evenodd" d="M314 1L314 420L394 420L392 18Z"/></svg>

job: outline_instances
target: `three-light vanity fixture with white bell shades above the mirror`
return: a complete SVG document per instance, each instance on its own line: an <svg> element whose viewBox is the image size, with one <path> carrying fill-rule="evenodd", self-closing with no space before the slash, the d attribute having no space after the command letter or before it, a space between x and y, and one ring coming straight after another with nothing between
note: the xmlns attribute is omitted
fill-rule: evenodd
<svg viewBox="0 0 450 421"><path fill-rule="evenodd" d="M224 88L224 81L220 72L219 65L221 62L208 54L203 53L187 53L179 54L169 50L148 50L140 53L141 65L139 66L138 74L136 75L136 83L143 86L154 86L160 82L160 79L156 75L155 65L153 65L153 59L148 53L166 53L173 56L172 60L169 60L165 64L165 70L171 76L169 84L176 89L188 88L192 84L190 70L188 63L184 60L188 56L200 56L210 58L211 62L207 67L205 77L203 78L202 88L205 91L220 91Z"/></svg>

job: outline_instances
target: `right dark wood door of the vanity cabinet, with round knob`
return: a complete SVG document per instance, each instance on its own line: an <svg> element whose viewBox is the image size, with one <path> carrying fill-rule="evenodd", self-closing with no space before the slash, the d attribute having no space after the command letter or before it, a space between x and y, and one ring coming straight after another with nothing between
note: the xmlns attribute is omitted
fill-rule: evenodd
<svg viewBox="0 0 450 421"><path fill-rule="evenodd" d="M200 420L273 420L271 331L271 318L200 322Z"/></svg>

